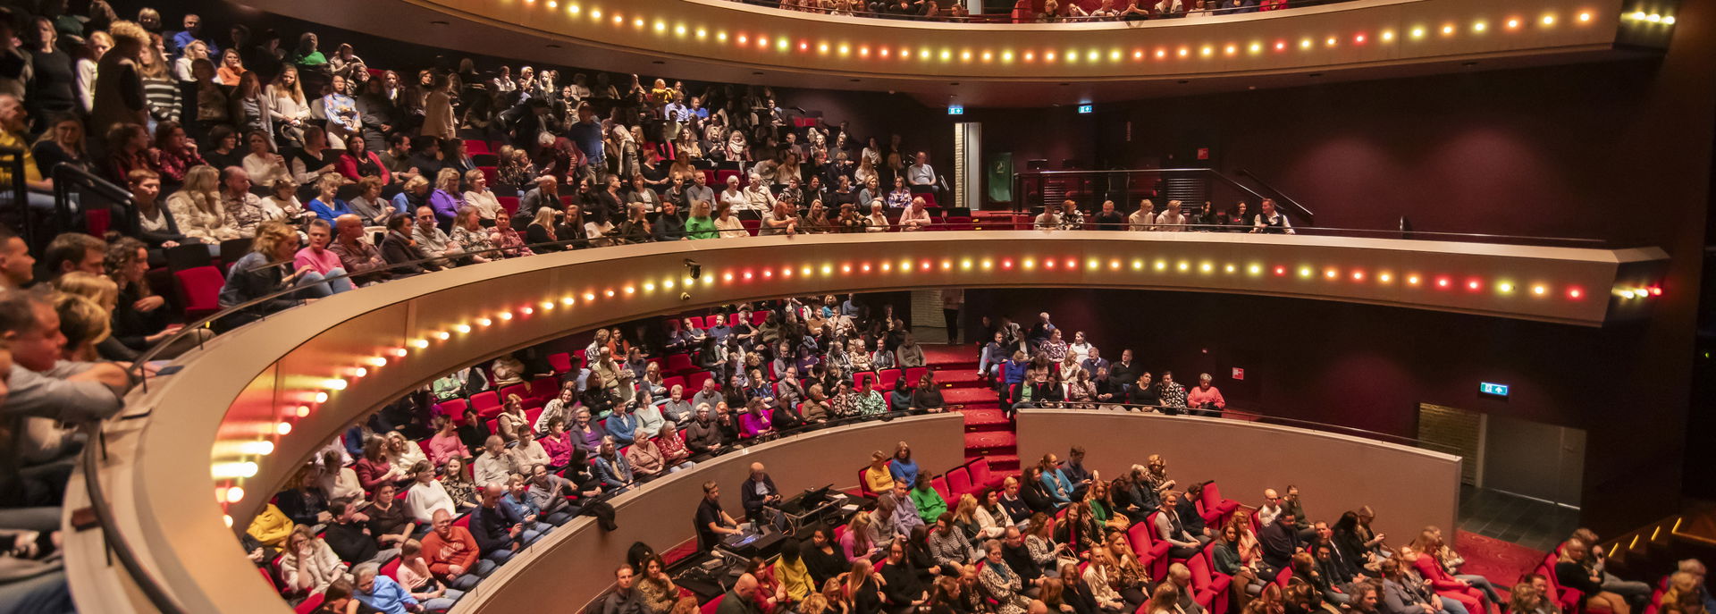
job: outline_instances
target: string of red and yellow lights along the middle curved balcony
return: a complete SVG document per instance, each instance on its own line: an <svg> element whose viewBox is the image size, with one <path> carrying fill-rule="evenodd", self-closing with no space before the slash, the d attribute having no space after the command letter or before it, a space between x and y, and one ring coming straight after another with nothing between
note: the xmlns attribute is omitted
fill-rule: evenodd
<svg viewBox="0 0 1716 614"><path fill-rule="evenodd" d="M1471 300L1589 300L1591 293L1568 283L1553 280L1517 280L1505 274L1462 274L1411 269L1368 269L1347 264L1314 262L1263 262L1263 261L1211 261L1211 259L1175 259L1175 257L1098 257L1098 256L970 256L947 259L873 259L873 261L819 261L776 266L745 266L726 269L704 269L698 276L686 276L683 269L664 271L625 281L618 286L585 288L582 292L558 290L542 300L522 305L498 305L489 310L467 316L465 319L420 331L398 346L376 348L372 355L360 357L347 365L335 365L321 374L292 374L283 377L285 400L275 408L269 422L254 422L223 429L235 437L221 439L213 448L211 475L216 480L214 499L221 504L223 520L232 527L233 520L225 515L227 506L244 499L244 482L259 470L259 461L275 451L275 441L292 432L292 424L309 417L335 394L347 391L378 369L393 362L408 360L414 352L432 352L436 343L450 341L455 336L479 333L492 326L506 326L515 319L554 317L568 314L577 305L590 305L604 300L626 300L657 292L685 292L697 286L716 285L753 285L770 281L788 281L793 278L829 278L836 276L940 276L949 283L983 283L975 276L988 276L990 281L1028 281L1035 285L1054 280L1057 274L1136 274L1136 276L1206 276L1230 278L1239 283L1263 283L1292 280L1304 285L1378 285L1399 286L1412 292L1438 292L1448 297L1471 297ZM1272 280L1275 278L1275 280ZM1661 285L1618 285L1610 288L1610 295L1620 300L1649 300L1663 295Z"/></svg>

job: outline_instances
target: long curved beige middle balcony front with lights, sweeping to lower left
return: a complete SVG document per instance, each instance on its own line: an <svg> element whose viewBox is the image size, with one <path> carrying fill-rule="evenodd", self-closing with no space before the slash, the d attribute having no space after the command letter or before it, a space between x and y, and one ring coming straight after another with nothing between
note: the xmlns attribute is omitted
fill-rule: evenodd
<svg viewBox="0 0 1716 614"><path fill-rule="evenodd" d="M280 602L235 547L233 525L242 528L314 449L444 372L652 314L782 295L1093 286L1601 326L1649 312L1663 261L1656 249L915 232L664 242L422 274L269 316L182 357L182 370L137 389L127 418L106 425L98 468L122 535L69 532L69 573L86 611L146 611L132 578L106 563L103 540L124 539L190 612L285 611L269 605ZM72 511L89 504L82 489L82 477L69 487L69 527ZM669 539L688 532L680 523L668 528Z"/></svg>

